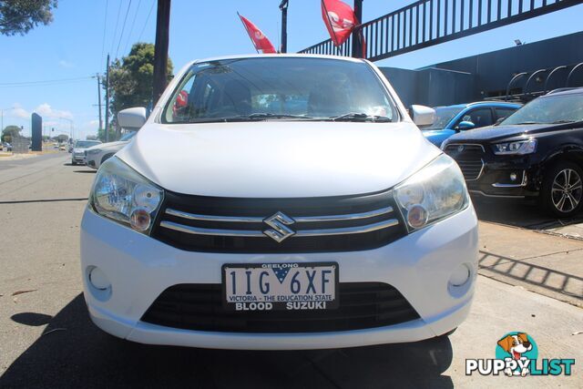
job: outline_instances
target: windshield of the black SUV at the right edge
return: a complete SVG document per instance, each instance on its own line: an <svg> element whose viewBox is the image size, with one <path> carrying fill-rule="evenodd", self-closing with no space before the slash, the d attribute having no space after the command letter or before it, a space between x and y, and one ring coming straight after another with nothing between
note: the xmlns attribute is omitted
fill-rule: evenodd
<svg viewBox="0 0 583 389"><path fill-rule="evenodd" d="M538 97L500 125L572 123L583 120L583 94Z"/></svg>

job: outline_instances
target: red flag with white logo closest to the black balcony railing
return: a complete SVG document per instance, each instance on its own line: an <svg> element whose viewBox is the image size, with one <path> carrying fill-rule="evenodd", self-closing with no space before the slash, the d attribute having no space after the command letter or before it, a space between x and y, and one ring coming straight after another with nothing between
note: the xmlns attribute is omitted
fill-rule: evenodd
<svg viewBox="0 0 583 389"><path fill-rule="evenodd" d="M353 8L340 0L322 0L322 19L336 46L346 42L358 24Z"/></svg>

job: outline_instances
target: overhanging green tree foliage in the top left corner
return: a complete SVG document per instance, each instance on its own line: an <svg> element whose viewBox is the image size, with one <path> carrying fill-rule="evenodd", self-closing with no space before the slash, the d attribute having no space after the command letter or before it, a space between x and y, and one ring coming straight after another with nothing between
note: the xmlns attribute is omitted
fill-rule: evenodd
<svg viewBox="0 0 583 389"><path fill-rule="evenodd" d="M56 4L57 0L0 1L0 34L24 36L38 25L48 25Z"/></svg>

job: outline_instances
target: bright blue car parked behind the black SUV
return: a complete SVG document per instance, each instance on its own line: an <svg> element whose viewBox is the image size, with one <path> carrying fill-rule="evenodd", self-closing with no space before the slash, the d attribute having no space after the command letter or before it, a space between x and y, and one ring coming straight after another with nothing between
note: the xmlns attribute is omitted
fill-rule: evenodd
<svg viewBox="0 0 583 389"><path fill-rule="evenodd" d="M519 107L522 106L502 101L435 107L435 122L420 128L425 138L440 147L446 138L467 129L492 126L496 121L512 115Z"/></svg>

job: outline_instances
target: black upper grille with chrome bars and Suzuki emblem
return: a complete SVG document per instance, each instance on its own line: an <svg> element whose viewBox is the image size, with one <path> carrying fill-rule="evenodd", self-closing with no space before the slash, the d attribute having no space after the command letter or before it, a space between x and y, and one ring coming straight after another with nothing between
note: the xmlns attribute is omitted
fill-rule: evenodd
<svg viewBox="0 0 583 389"><path fill-rule="evenodd" d="M406 231L393 194L241 199L166 193L152 237L186 251L360 251Z"/></svg>

